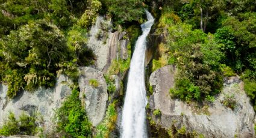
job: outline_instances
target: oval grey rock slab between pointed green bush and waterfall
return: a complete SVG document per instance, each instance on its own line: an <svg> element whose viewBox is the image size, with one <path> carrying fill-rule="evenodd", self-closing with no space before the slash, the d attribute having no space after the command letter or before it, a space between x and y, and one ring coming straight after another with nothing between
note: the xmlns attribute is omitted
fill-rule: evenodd
<svg viewBox="0 0 256 138"><path fill-rule="evenodd" d="M80 97L86 105L88 118L96 127L105 115L108 100L107 83L101 71L90 67L80 67L79 70ZM92 80L96 80L98 86L90 85Z"/></svg>

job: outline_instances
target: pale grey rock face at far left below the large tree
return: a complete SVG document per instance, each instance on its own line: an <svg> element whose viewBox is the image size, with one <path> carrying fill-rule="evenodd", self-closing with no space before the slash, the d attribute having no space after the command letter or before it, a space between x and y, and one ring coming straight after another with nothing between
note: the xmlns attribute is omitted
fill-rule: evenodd
<svg viewBox="0 0 256 138"><path fill-rule="evenodd" d="M23 91L8 102L7 86L1 84L0 126L3 125L9 112L13 112L16 118L19 118L22 113L27 115L40 113L43 116L44 130L48 131L52 126L51 118L54 116L54 109L60 107L64 97L71 94L71 89L67 83L72 82L66 76L60 75L54 88L45 89L41 87L34 92Z"/></svg>

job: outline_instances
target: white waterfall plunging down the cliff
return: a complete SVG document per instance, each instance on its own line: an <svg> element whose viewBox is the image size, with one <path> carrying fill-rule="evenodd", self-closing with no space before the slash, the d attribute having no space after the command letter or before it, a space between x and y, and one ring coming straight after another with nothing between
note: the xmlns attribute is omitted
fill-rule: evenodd
<svg viewBox="0 0 256 138"><path fill-rule="evenodd" d="M145 50L146 37L154 23L154 17L146 11L148 22L141 25L143 34L136 41L122 112L122 137L147 137L146 133L146 89L145 89Z"/></svg>

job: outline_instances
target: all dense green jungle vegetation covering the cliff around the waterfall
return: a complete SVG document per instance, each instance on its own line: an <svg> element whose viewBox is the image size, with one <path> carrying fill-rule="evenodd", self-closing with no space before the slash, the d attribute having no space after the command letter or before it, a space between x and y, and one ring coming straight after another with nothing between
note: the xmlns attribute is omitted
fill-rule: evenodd
<svg viewBox="0 0 256 138"><path fill-rule="evenodd" d="M23 89L52 87L58 73L76 80L77 67L96 60L86 46L96 16L111 18L114 30L133 35L133 28L145 22L145 8L156 18L155 33L165 38L152 71L164 65L178 68L170 95L188 102L211 102L224 77L239 75L256 110L254 0L0 0L0 81L8 85L8 97ZM92 134L76 89L67 101L73 106L64 103L58 110L58 118L68 118L58 122L58 131L67 137ZM109 116L116 116L113 110L112 105ZM10 121L7 125L19 124L13 114ZM73 131L72 126L79 129ZM33 123L29 127L25 129L36 131ZM0 130L0 134L10 131Z"/></svg>

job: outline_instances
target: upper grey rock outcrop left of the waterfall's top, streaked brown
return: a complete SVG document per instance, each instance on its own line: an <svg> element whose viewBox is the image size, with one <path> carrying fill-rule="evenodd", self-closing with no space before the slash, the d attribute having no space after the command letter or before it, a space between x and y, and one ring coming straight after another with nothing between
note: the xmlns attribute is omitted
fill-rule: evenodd
<svg viewBox="0 0 256 138"><path fill-rule="evenodd" d="M105 20L99 16L95 25L92 26L89 33L87 46L93 50L96 55L96 69L105 73L110 67L113 59L128 58L128 39L123 38L126 32L111 32L111 20Z"/></svg>

